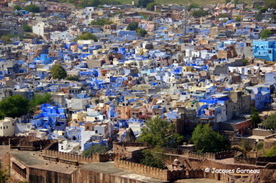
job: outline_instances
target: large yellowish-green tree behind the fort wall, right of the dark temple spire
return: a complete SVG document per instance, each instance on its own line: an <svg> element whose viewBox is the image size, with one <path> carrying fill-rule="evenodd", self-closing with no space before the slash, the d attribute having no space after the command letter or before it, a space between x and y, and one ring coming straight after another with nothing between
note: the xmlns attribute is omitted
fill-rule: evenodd
<svg viewBox="0 0 276 183"><path fill-rule="evenodd" d="M184 137L175 133L175 125L172 122L156 117L146 121L146 127L141 129L138 142L147 142L156 147L177 147L183 142Z"/></svg>

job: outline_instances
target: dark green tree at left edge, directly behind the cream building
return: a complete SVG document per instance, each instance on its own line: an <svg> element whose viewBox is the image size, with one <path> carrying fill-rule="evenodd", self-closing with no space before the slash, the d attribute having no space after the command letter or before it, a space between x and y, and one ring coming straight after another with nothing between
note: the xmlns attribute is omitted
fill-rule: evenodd
<svg viewBox="0 0 276 183"><path fill-rule="evenodd" d="M30 111L29 100L23 96L9 96L0 102L0 116L4 117L21 117Z"/></svg>

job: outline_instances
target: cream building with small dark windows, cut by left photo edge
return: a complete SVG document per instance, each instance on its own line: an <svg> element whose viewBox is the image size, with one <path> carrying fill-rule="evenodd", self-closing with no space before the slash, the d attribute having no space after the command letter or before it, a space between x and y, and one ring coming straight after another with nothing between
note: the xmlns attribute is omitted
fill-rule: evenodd
<svg viewBox="0 0 276 183"><path fill-rule="evenodd" d="M14 136L15 127L13 118L4 118L0 120L0 136Z"/></svg>

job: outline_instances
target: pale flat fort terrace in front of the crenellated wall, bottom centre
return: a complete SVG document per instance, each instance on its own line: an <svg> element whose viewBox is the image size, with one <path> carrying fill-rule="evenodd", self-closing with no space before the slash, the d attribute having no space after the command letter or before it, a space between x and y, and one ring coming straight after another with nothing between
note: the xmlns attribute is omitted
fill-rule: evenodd
<svg viewBox="0 0 276 183"><path fill-rule="evenodd" d="M142 182L152 182L152 183L166 182L163 180L154 179L152 177L139 175L137 173L132 173L124 169L119 169L114 166L114 162L92 162L89 164L81 165L81 169L86 169L89 171L96 171L101 173L108 173L111 175L117 175L121 177L127 177L129 179L140 180Z"/></svg>

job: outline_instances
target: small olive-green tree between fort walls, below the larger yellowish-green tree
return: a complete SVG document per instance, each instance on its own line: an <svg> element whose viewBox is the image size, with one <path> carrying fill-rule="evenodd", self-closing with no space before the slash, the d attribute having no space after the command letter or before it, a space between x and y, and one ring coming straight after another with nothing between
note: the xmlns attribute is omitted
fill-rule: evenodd
<svg viewBox="0 0 276 183"><path fill-rule="evenodd" d="M142 151L141 164L146 166L153 166L155 168L164 169L164 151L159 147L154 149L144 149Z"/></svg>

